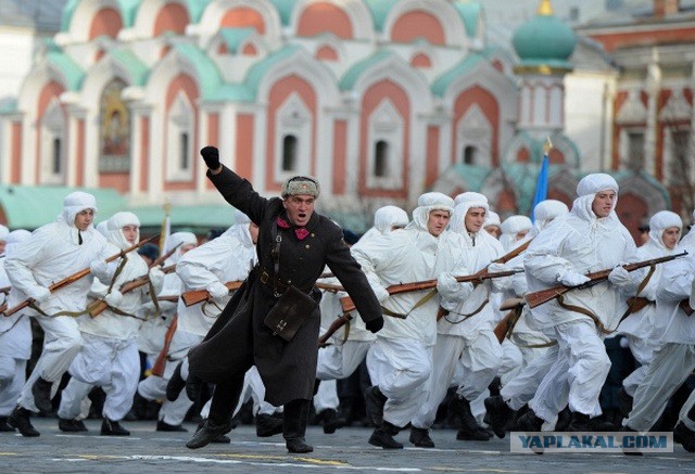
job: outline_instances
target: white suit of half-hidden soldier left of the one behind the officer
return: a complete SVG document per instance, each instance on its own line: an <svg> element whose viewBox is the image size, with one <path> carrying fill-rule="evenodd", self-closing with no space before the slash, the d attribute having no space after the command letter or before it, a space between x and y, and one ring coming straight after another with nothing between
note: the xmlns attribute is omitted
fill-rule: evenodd
<svg viewBox="0 0 695 474"><path fill-rule="evenodd" d="M198 245L198 239L195 234L191 232L175 232L167 239L164 252L167 253L179 244L180 246L177 251L164 261L164 267L177 265L186 252ZM164 277L162 291L160 291L157 296L178 296L181 294L181 279L178 274L175 272L167 273ZM146 317L147 320L140 329L138 349L147 354L152 363L154 363L164 347L166 331L176 315L177 303L159 302L159 306L161 310L160 313L154 310L152 303L142 305L139 311L139 316ZM178 361L188 354L188 349L191 348L197 341L199 341L199 337L194 334L188 332L179 333L177 331L169 345L163 375L150 375L138 384L138 394L143 398L148 400L164 400L160 409L159 419L174 426L181 424L186 418L186 412L193 402L189 400L186 392L181 392L176 401L167 400L166 384L172 377Z"/></svg>

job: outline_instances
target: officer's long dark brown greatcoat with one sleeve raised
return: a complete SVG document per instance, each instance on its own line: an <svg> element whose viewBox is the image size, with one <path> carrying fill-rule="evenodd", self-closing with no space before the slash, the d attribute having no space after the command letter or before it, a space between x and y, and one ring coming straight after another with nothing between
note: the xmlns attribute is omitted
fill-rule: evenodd
<svg viewBox="0 0 695 474"><path fill-rule="evenodd" d="M251 183L224 168L208 178L225 200L258 225L258 267L274 273L270 252L273 223L285 216L282 200L265 198ZM287 220L287 217L286 217ZM299 240L294 229L278 228L282 236L279 280L299 289L312 289L326 265L348 291L365 321L381 317L381 307L359 264L350 254L342 230L317 213L306 229L309 234ZM311 399L316 377L319 310L313 311L291 342L274 336L263 320L277 302L273 287L260 281L258 270L249 276L244 285L229 302L205 341L189 354L190 370L207 382L220 383L230 374L255 364L265 384L265 399L280 406L294 399ZM312 291L315 299L318 290Z"/></svg>

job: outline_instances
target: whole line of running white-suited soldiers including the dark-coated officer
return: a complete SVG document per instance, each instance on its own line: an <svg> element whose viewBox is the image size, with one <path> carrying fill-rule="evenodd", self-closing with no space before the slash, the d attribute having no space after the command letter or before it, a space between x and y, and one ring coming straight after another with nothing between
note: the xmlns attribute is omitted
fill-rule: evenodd
<svg viewBox="0 0 695 474"><path fill-rule="evenodd" d="M632 410L622 430L644 432L695 368L688 318L695 257L627 265L693 248L695 234L681 240L680 217L660 212L637 248L615 213L618 184L608 175L584 177L571 209L540 203L533 222L523 216L500 222L479 193L455 200L426 193L412 219L394 206L378 209L374 228L349 248L340 229L314 212L315 179L291 178L280 198L266 200L219 163L216 149L201 154L210 179L240 212L235 226L202 246L191 233L170 235L165 261L148 266L131 252L140 242L132 213L117 213L97 231L97 205L84 192L65 197L55 222L0 235L7 242L0 287L11 287L5 315L26 305L0 318L0 430L38 436L30 414L51 411L67 371L62 431L86 430L84 400L94 386L106 394L102 435L129 434L119 422L136 392L165 400L157 430L182 431L192 400L212 382L213 398L189 448L228 443L231 415L253 398L260 436L282 433L290 452L309 452L309 400L334 417L334 381L366 360L372 385L364 396L375 426L368 441L384 449L403 448L395 437L407 427L412 444L434 447L429 431L452 388L460 440L504 437L510 420L530 432L606 431L598 422L610 369L604 340L623 334L642 366L623 383ZM56 285L83 269L80 278ZM333 280L321 278L327 270ZM135 281L141 284L134 287ZM317 281L329 289L323 297ZM429 283L404 289L415 282ZM563 294L530 303L558 286ZM264 319L288 287L320 300L321 316L312 311L285 341ZM179 295L190 291L204 297L187 306ZM348 296L352 308L345 308ZM495 330L508 319L501 307L510 298L516 320L501 342ZM338 315L349 322L317 350L308 342ZM25 381L28 317L41 325L45 342ZM138 350L157 367L143 381ZM500 395L490 396L496 379ZM315 380L321 381L317 392ZM688 451L695 451L693 405L695 396L674 426ZM327 426L330 433L339 425L327 420Z"/></svg>

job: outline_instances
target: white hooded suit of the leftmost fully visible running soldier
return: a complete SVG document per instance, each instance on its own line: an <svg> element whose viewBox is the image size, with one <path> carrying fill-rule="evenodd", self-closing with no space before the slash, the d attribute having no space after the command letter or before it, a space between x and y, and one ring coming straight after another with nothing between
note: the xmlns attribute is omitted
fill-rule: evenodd
<svg viewBox="0 0 695 474"><path fill-rule="evenodd" d="M17 244L5 261L4 268L12 283L8 306L11 308L34 298L42 312L29 307L23 310L24 315L37 319L45 334L41 356L18 399L18 405L29 411L38 411L31 394L34 383L40 376L53 383L53 390L58 389L56 383L83 345L76 318L62 312L85 311L94 277L109 282L118 264L118 259L112 265L105 264L112 248L91 223L84 231L75 227L75 217L86 209L97 212L94 196L81 191L68 194L55 222L35 230ZM49 291L53 283L89 268L90 274L55 292Z"/></svg>

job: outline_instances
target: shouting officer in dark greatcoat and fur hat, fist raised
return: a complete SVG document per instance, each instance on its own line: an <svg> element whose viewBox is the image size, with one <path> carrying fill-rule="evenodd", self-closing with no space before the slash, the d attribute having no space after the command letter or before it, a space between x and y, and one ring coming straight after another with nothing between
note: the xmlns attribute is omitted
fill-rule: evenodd
<svg viewBox="0 0 695 474"><path fill-rule="evenodd" d="M274 334L264 320L290 285L318 302L320 293L314 284L326 265L351 295L371 332L383 325L381 307L351 256L340 227L314 212L319 194L315 179L288 179L282 184L282 198L265 198L249 181L220 165L216 148L205 146L201 155L210 168L207 177L225 200L258 225L258 265L205 341L189 354L190 373L216 386L205 424L186 446L201 448L231 430L231 412L244 373L255 364L265 384L266 400L285 406L282 435L287 449L311 452L304 435L316 379L319 310L316 307L311 311L289 342Z"/></svg>

